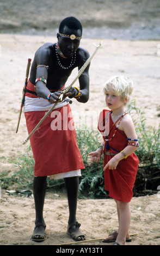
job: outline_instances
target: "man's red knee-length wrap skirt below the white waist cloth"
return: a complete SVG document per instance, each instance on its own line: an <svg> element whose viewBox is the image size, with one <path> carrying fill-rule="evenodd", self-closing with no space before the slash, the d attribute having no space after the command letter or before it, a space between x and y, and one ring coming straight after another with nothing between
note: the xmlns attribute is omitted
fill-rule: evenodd
<svg viewBox="0 0 160 256"><path fill-rule="evenodd" d="M59 112L60 119L57 115L53 118L54 111ZM74 128L73 130L66 129L68 124L73 127L72 114L67 114L67 117L64 115L64 113L69 112L71 112L69 104L54 109L30 137L30 145L35 160L35 176L48 176L84 169L82 156L77 145L76 131ZM45 111L25 112L24 114L28 133L30 134L44 117ZM53 125L53 120L61 121L62 130L52 130L56 126Z"/></svg>

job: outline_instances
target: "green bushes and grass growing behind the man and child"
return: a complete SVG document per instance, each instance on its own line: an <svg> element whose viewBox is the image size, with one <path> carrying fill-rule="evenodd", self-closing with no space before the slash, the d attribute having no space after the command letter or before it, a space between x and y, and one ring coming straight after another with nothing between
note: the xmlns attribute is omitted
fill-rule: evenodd
<svg viewBox="0 0 160 256"><path fill-rule="evenodd" d="M136 182L133 188L135 197L145 196L146 194L157 193L157 187L160 179L160 149L159 149L159 129L154 127L146 128L143 111L136 107L136 102L132 101L128 105L139 139L140 147L136 154L140 164L138 168ZM79 184L79 197L81 198L108 198L108 193L104 191L103 180L103 157L101 162L94 163L90 161L88 153L97 149L101 141L101 135L98 131L77 130L78 147L81 150L85 170L82 172ZM14 173L1 172L0 186L5 190L14 190L14 194L32 194L34 159L32 150L27 147L26 154L16 159L4 159L14 163L17 171ZM47 189L54 192L64 189L63 180L47 179Z"/></svg>

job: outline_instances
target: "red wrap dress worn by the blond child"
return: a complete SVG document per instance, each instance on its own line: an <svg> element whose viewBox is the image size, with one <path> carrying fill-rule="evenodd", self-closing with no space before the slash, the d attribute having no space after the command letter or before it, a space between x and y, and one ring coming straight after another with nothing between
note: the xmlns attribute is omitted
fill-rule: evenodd
<svg viewBox="0 0 160 256"><path fill-rule="evenodd" d="M103 112L100 113L100 119L102 120L103 116L103 126L104 126L104 116L105 113L108 114L108 110L104 109ZM100 120L99 119L99 120ZM109 115L109 129L113 125L113 120L111 115ZM100 124L100 122L99 122ZM116 126L114 125L112 130L109 132L109 138L112 138ZM99 125L99 130L100 125ZM102 132L102 130L101 130ZM104 139L104 136L103 136ZM127 137L124 131L119 129L116 130L115 136L109 141L109 146L113 149L106 149L107 142L104 140L104 151L110 151L112 153L118 153L117 151L121 151L127 146ZM106 166L107 162L114 156L107 156L104 154L104 166ZM118 163L118 166L115 170L109 170L107 168L104 171L104 185L105 190L109 191L109 196L114 198L115 200L119 200L121 202L130 202L133 197L133 186L137 175L139 160L138 157L133 153L128 156L126 159L121 160Z"/></svg>

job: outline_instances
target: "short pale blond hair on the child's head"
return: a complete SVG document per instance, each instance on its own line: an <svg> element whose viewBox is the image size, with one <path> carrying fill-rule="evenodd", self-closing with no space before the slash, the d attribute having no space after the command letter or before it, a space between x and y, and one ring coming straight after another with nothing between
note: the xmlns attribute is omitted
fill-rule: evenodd
<svg viewBox="0 0 160 256"><path fill-rule="evenodd" d="M129 100L133 92L133 82L128 77L113 76L103 87L104 94L108 93L108 88L112 87L116 95L121 96L121 100Z"/></svg>

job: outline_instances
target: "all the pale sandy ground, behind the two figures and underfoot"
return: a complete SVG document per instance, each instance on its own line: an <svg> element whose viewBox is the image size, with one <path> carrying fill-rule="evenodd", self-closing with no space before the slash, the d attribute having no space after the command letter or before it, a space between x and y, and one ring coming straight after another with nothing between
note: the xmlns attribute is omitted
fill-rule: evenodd
<svg viewBox="0 0 160 256"><path fill-rule="evenodd" d="M39 5L38 2L40 2ZM108 28L117 29L117 32L113 29L116 39L122 38L122 32L128 33L130 39L137 38L137 40L113 40L114 35L111 33L108 34L109 39L106 39L102 29L98 36L99 39L87 39L87 36L82 39L81 46L87 48L90 53L95 50L94 43L99 44L102 40L102 46L90 66L89 101L82 104L73 100L71 105L77 129L82 129L82 124L85 121L89 129L96 129L99 112L106 107L102 86L113 75L125 75L132 78L134 82L132 99L136 99L137 106L144 110L146 126L158 128L160 119L160 58L158 58L160 53L158 54L158 45L160 40L138 40L140 35L145 36L146 33L152 34L147 39L157 39L158 1L135 0L127 1L126 5L124 5L126 1L81 1L81 6L78 5L78 1L75 1L74 11L71 4L73 1L69 1L70 5L65 6L64 4L58 5L59 1L54 2L55 8L52 7L52 1L45 1L45 4L44 1L35 1L34 6L33 1L20 1L19 5L16 4L16 1L1 2L0 157L16 157L26 151L27 145L22 145L23 140L28 136L23 113L19 131L17 134L15 131L27 59L33 59L34 52L45 42L56 42L56 33L52 37L48 34L53 32L53 24L53 28L57 28L61 17L64 16L64 9L65 16L75 15L79 19L81 18L83 26L85 24L93 27L98 25L96 29L99 30L100 26L105 25ZM109 5L105 3L109 3ZM109 10L104 7L108 7ZM121 15L118 15L120 10ZM46 11L47 15L41 15L46 14ZM53 16L51 12L53 12ZM137 29L137 27L139 28L138 32L134 33L133 28ZM27 35L27 33L38 34L41 30L45 32L43 35ZM88 29L84 29L84 32L86 31ZM21 35L17 34L20 32ZM127 38L128 34L126 33L124 33L124 37ZM76 72L73 72L68 84ZM84 119L84 117L86 118ZM79 123L79 118L81 123ZM12 163L1 159L0 171L13 172L15 169L16 167ZM157 194L132 199L130 233L136 235L128 245L160 244L159 205L160 199ZM30 240L35 218L33 198L8 196L5 191L2 191L0 245L61 245L72 242L66 235L68 211L64 194L57 197L53 193L47 193L44 216L47 225L47 240L35 243ZM118 228L115 203L112 199L79 199L77 220L82 224L81 229L87 235L87 240L101 239L110 231ZM97 240L81 242L78 245L103 245L106 247L110 244L104 245L101 240Z"/></svg>

